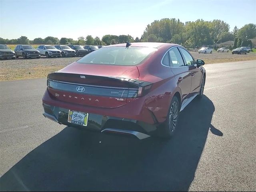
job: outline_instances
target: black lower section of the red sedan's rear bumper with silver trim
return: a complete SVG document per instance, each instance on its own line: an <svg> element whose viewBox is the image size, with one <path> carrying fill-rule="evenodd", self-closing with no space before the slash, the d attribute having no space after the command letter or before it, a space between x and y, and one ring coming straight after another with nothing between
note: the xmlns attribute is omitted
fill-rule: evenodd
<svg viewBox="0 0 256 192"><path fill-rule="evenodd" d="M43 116L70 127L78 127L97 132L119 132L124 134L133 134L138 138L147 138L155 134L157 126L146 124L132 119L124 119L113 116L105 116L89 113L87 126L80 126L68 122L69 109L44 104Z"/></svg>

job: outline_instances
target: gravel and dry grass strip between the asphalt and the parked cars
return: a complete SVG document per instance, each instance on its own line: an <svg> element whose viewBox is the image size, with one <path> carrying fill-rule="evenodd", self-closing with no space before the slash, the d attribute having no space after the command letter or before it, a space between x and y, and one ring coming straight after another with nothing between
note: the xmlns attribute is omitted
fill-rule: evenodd
<svg viewBox="0 0 256 192"><path fill-rule="evenodd" d="M234 54L218 53L213 54L199 54L198 52L190 52L195 59L202 59L206 64L221 63L221 62L235 62L256 60L256 54ZM70 58L46 58L42 56L40 59L23 59L16 60L0 60L0 81L7 80L22 80L45 78L48 73L58 71L67 65L75 62L80 57Z"/></svg>

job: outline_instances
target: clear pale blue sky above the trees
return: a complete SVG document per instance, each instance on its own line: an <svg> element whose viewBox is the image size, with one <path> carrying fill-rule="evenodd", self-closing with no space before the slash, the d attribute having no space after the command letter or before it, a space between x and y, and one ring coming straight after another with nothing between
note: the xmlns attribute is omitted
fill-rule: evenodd
<svg viewBox="0 0 256 192"><path fill-rule="evenodd" d="M0 37L142 35L161 18L256 24L256 0L0 0Z"/></svg>

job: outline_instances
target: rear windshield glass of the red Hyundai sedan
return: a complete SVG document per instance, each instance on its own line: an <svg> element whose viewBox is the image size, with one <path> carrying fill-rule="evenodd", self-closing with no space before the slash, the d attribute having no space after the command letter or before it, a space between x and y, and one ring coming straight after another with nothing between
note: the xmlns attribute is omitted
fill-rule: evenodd
<svg viewBox="0 0 256 192"><path fill-rule="evenodd" d="M77 62L84 64L136 65L156 50L156 48L145 47L107 47L91 52Z"/></svg>

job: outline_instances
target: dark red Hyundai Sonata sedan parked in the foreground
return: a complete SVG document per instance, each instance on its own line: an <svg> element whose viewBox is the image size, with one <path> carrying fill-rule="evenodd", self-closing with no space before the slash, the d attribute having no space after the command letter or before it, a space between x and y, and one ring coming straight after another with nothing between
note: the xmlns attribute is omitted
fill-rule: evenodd
<svg viewBox="0 0 256 192"><path fill-rule="evenodd" d="M180 111L204 92L202 65L177 44L106 46L48 75L43 115L98 132L169 138Z"/></svg>

